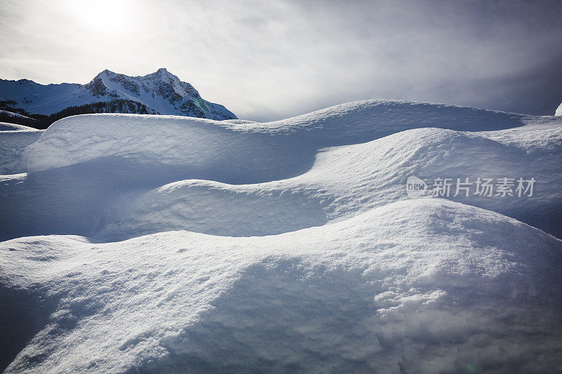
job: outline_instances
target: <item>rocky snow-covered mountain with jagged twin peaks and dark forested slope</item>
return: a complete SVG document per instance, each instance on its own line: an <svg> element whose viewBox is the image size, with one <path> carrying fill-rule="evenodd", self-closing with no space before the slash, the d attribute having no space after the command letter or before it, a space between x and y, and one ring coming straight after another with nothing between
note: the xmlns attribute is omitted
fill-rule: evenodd
<svg viewBox="0 0 562 374"><path fill-rule="evenodd" d="M43 85L28 79L0 79L0 101L32 114L54 114L67 107L118 99L140 102L152 114L218 121L237 118L223 105L204 100L191 84L164 68L145 76L126 76L104 70L89 84Z"/></svg>

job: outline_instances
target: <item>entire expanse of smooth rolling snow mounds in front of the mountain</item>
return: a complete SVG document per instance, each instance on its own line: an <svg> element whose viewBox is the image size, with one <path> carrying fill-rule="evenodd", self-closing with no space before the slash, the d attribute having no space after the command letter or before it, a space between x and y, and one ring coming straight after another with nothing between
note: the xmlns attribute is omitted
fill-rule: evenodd
<svg viewBox="0 0 562 374"><path fill-rule="evenodd" d="M0 177L0 234L16 238L0 243L1 359L14 373L559 371L561 156L562 119L426 103L60 120L25 149L27 174ZM537 183L410 199L410 175Z"/></svg>

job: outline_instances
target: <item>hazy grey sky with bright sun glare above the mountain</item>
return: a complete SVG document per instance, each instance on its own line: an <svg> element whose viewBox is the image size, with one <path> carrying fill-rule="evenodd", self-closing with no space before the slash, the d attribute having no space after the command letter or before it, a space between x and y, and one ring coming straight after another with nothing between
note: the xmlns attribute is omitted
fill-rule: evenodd
<svg viewBox="0 0 562 374"><path fill-rule="evenodd" d="M0 1L0 78L166 67L240 119L399 99L554 114L562 1Z"/></svg>

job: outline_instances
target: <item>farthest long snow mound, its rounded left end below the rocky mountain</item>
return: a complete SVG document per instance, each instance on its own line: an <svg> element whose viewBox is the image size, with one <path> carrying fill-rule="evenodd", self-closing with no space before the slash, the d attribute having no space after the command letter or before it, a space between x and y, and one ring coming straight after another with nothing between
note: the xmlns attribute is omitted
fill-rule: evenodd
<svg viewBox="0 0 562 374"><path fill-rule="evenodd" d="M49 126L28 150L27 166L30 171L41 171L108 156L174 165L196 165L209 158L222 164L235 157L237 163L253 168L259 162L256 159L271 163L281 158L282 162L267 166L273 171L289 161L282 153L303 156L306 152L306 159L311 159L322 147L367 142L410 128L489 131L522 126L526 117L452 105L381 100L351 102L269 123L86 114ZM276 149L279 147L281 151ZM263 175L263 171L252 172ZM275 179L282 178L287 175L275 175Z"/></svg>

